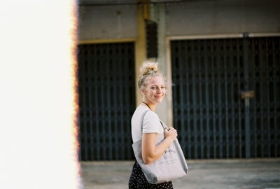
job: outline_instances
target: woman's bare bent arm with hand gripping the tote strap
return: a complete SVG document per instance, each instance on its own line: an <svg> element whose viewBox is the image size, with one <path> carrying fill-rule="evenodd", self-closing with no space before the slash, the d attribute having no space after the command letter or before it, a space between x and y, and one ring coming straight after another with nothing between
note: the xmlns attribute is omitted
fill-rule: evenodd
<svg viewBox="0 0 280 189"><path fill-rule="evenodd" d="M157 141L156 133L143 133L142 135L142 158L146 164L149 164L162 155L167 148L172 144L172 141L176 139L177 132L173 127L169 127L169 130L165 130L165 140L163 140L158 146L155 146Z"/></svg>

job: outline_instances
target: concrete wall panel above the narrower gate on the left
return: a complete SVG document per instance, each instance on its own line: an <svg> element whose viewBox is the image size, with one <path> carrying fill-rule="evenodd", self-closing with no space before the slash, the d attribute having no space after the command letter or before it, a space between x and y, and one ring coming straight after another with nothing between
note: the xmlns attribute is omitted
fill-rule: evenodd
<svg viewBox="0 0 280 189"><path fill-rule="evenodd" d="M78 40L136 38L136 6L80 6Z"/></svg>

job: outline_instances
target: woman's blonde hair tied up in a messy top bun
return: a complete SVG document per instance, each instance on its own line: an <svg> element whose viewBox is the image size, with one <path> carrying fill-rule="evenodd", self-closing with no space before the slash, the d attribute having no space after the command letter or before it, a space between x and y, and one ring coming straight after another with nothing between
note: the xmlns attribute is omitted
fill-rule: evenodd
<svg viewBox="0 0 280 189"><path fill-rule="evenodd" d="M140 67L140 76L138 79L139 89L145 89L147 78L152 78L154 76L162 76L166 83L165 76L158 70L158 62L151 62L149 60L144 62Z"/></svg>

